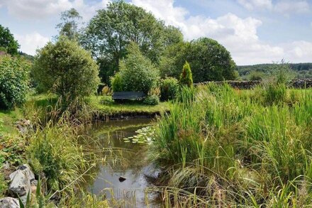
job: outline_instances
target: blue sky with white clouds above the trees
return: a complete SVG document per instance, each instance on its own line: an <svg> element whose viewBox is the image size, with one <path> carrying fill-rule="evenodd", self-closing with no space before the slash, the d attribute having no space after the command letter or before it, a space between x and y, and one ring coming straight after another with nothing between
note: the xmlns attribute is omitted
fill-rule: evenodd
<svg viewBox="0 0 312 208"><path fill-rule="evenodd" d="M24 53L35 55L54 35L60 13L77 9L88 21L111 0L0 0L0 24ZM237 65L312 62L312 0L126 0L182 31L208 37Z"/></svg>

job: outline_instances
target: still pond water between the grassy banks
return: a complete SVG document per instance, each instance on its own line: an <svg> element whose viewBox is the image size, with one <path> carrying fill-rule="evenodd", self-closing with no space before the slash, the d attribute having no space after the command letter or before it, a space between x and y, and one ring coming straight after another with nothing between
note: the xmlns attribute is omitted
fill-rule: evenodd
<svg viewBox="0 0 312 208"><path fill-rule="evenodd" d="M98 153L106 162L99 162L94 170L95 177L87 179L89 192L113 198L123 207L160 207L157 194L147 193L145 189L152 187L151 179L159 173L147 161L147 144L124 140L151 122L150 119L133 119L103 121L93 125L89 136L94 141L88 142L87 148Z"/></svg>

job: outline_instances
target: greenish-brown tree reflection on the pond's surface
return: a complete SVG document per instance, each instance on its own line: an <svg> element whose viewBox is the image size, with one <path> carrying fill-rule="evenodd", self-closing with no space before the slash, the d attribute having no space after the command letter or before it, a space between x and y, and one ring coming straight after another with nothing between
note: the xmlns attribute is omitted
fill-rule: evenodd
<svg viewBox="0 0 312 208"><path fill-rule="evenodd" d="M106 177L109 175L113 177L114 173L140 177L143 168L147 165L147 146L138 143L125 143L123 138L134 136L135 131L149 123L150 119L137 119L94 125L94 128L88 132L89 138L82 139L81 144L86 152L96 155L98 165L84 177L86 184L82 187L87 188L89 185L94 185L103 172L108 174ZM101 180L110 183L107 178L101 178Z"/></svg>

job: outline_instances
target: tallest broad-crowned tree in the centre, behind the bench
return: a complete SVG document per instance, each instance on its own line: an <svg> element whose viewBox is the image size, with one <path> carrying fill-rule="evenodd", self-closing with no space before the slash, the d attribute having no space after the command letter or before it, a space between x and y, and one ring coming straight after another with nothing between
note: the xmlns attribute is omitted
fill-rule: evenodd
<svg viewBox="0 0 312 208"><path fill-rule="evenodd" d="M167 45L182 39L179 29L165 26L152 13L124 1L113 1L91 19L81 43L99 62L102 81L107 83L118 72L119 61L126 58L130 42L137 43L143 55L158 64Z"/></svg>

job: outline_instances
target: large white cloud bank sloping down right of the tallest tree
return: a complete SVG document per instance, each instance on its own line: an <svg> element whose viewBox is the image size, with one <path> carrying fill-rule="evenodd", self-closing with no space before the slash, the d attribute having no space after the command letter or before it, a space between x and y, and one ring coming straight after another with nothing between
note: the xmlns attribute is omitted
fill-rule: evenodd
<svg viewBox="0 0 312 208"><path fill-rule="evenodd" d="M174 6L173 0L133 0L132 3L151 11L165 23L179 27L186 40L202 36L218 40L230 51L238 65L279 61L282 58L291 62L311 62L312 43L263 43L257 35L262 21L256 18L240 18L233 13L218 18L189 16L186 9Z"/></svg>

